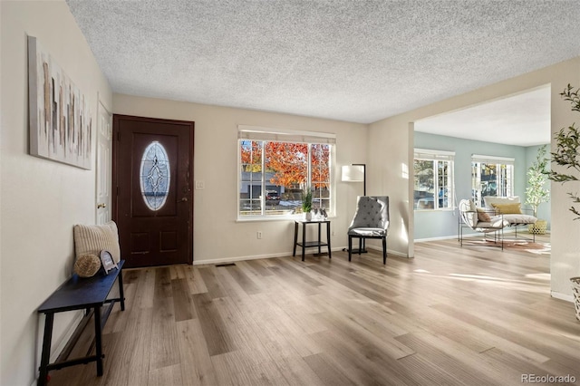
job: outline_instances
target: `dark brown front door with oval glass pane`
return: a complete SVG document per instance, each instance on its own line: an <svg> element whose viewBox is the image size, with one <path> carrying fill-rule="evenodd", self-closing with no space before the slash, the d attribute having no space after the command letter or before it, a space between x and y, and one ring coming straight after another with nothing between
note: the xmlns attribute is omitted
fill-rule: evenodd
<svg viewBox="0 0 580 386"><path fill-rule="evenodd" d="M192 263L193 133L189 121L113 116L112 217L126 267Z"/></svg>

